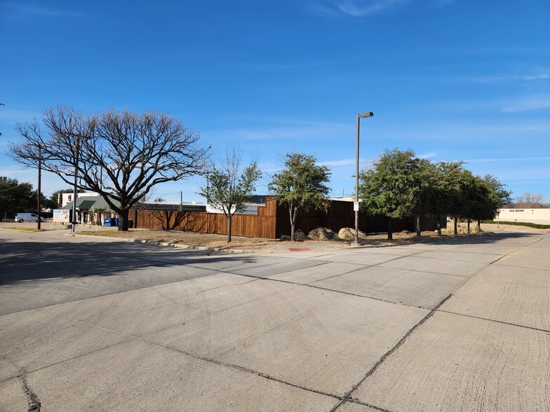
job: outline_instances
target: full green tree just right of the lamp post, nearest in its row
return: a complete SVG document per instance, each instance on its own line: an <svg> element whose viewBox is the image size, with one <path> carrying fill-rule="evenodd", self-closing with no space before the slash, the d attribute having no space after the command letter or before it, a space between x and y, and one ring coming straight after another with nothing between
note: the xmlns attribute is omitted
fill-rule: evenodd
<svg viewBox="0 0 550 412"><path fill-rule="evenodd" d="M419 159L412 150L386 150L370 169L359 174L361 209L387 217L388 240L393 239L391 219L412 217L424 210L419 198Z"/></svg>

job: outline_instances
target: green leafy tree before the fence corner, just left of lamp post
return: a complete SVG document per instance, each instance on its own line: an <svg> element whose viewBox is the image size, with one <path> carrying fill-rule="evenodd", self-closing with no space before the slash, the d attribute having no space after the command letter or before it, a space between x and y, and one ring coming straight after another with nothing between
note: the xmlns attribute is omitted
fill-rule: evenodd
<svg viewBox="0 0 550 412"><path fill-rule="evenodd" d="M321 209L328 198L330 170L317 165L316 158L304 153L287 153L281 172L273 175L269 191L290 214L290 240L295 238L296 217L300 210Z"/></svg>

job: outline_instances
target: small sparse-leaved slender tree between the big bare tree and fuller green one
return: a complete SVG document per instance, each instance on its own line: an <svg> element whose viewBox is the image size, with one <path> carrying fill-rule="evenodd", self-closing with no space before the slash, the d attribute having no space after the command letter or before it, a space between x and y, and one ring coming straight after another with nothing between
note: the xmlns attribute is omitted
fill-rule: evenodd
<svg viewBox="0 0 550 412"><path fill-rule="evenodd" d="M208 172L207 186L201 186L203 195L210 205L222 210L227 218L227 242L231 242L232 218L237 212L244 212L245 203L250 201L256 190L256 182L262 172L253 160L250 165L241 166L242 156L235 149L225 151L225 158L219 159Z"/></svg>

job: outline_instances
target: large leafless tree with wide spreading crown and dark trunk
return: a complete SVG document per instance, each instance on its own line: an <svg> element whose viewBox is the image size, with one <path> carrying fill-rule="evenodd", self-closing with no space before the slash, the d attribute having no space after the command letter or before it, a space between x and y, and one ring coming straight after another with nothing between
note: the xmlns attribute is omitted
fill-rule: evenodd
<svg viewBox="0 0 550 412"><path fill-rule="evenodd" d="M71 107L43 112L38 121L18 124L22 141L9 144L8 156L42 169L67 184L100 193L119 214L119 231L128 230L128 212L157 184L185 179L205 170L209 147L199 133L154 111L105 111L84 115Z"/></svg>

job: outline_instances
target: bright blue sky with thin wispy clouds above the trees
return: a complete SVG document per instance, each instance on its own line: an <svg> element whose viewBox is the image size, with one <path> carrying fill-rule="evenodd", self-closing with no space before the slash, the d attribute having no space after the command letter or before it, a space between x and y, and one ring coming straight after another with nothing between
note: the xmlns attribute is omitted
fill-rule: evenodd
<svg viewBox="0 0 550 412"><path fill-rule="evenodd" d="M373 111L361 167L412 149L550 201L548 0L4 0L0 47L0 175L35 186L6 144L65 104L180 118L217 153L258 156L258 193L285 153L313 154L349 195L355 116ZM154 195L201 201L199 184Z"/></svg>

